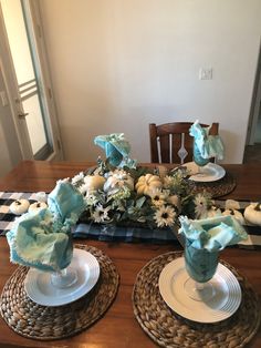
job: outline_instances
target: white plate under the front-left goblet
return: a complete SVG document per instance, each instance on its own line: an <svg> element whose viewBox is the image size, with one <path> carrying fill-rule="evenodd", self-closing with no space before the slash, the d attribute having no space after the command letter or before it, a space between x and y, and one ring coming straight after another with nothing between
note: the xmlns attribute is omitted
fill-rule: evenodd
<svg viewBox="0 0 261 348"><path fill-rule="evenodd" d="M71 265L77 272L77 282L67 288L56 288L51 273L30 268L24 279L28 296L42 306L62 306L87 294L97 283L100 265L88 252L74 248Z"/></svg>

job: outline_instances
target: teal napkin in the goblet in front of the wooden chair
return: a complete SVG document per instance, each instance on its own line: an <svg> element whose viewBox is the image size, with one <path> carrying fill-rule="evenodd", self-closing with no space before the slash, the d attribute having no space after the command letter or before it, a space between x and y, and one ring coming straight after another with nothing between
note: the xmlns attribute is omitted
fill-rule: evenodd
<svg viewBox="0 0 261 348"><path fill-rule="evenodd" d="M219 135L209 135L210 126L201 127L198 121L196 121L190 130L189 134L194 136L195 149L199 152L202 158L216 157L223 160L225 146Z"/></svg>

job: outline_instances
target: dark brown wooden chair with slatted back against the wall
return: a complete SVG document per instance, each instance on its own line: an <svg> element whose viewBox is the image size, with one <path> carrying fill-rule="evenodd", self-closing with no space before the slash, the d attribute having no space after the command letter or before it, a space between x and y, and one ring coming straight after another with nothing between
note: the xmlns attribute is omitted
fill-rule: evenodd
<svg viewBox="0 0 261 348"><path fill-rule="evenodd" d="M189 135L192 122L149 124L150 162L185 163L192 161L194 137ZM208 124L200 123L207 127ZM209 134L218 135L219 123L212 123Z"/></svg>

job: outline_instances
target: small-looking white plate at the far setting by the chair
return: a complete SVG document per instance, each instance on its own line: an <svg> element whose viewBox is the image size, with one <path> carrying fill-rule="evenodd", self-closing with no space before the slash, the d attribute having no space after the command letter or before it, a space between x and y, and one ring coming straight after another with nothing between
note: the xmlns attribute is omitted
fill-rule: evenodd
<svg viewBox="0 0 261 348"><path fill-rule="evenodd" d="M194 182L216 182L225 176L226 171L222 166L209 162L205 166L200 168L200 173L198 172L198 166L195 162L184 163L182 166L186 166L188 171L191 172L189 180Z"/></svg>

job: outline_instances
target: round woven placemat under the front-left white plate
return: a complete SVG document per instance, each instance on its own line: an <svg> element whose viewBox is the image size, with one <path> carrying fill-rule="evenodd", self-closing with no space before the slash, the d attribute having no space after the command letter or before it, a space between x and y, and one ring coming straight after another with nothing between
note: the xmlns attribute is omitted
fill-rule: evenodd
<svg viewBox="0 0 261 348"><path fill-rule="evenodd" d="M28 267L18 267L7 282L0 311L15 332L40 340L73 336L100 319L113 303L119 276L108 256L92 246L75 245L96 257L101 275L95 287L79 300L59 307L45 307L32 301L24 290Z"/></svg>

